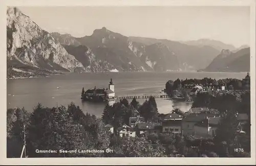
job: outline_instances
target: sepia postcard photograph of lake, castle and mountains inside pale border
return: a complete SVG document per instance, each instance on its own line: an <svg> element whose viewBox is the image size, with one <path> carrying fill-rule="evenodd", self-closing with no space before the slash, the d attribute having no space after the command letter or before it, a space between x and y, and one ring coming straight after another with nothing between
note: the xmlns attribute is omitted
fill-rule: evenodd
<svg viewBox="0 0 256 166"><path fill-rule="evenodd" d="M255 162L255 1L219 2L6 6L6 158Z"/></svg>

